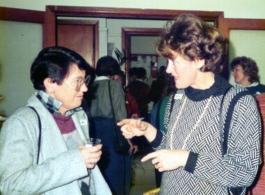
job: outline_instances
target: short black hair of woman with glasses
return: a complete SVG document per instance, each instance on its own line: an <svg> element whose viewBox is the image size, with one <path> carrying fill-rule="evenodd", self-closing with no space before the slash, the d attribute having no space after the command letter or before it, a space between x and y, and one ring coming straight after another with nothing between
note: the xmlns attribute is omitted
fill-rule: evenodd
<svg viewBox="0 0 265 195"><path fill-rule="evenodd" d="M43 81L46 78L50 78L54 83L61 85L73 65L84 70L86 75L91 75L90 65L77 52L58 46L44 48L31 65L33 87L45 91Z"/></svg>

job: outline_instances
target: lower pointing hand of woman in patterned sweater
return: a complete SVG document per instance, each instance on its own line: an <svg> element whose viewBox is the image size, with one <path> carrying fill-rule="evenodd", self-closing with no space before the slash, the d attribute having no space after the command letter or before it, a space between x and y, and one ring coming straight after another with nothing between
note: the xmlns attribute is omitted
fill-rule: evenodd
<svg viewBox="0 0 265 195"><path fill-rule="evenodd" d="M158 171L172 171L185 166L189 154L190 152L185 150L158 150L149 153L141 161L146 162L152 159L152 164Z"/></svg>

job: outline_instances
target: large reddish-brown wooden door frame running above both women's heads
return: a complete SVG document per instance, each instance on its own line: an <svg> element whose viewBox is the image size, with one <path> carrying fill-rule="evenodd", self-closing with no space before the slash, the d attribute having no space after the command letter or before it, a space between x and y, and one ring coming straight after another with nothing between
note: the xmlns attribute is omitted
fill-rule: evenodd
<svg viewBox="0 0 265 195"><path fill-rule="evenodd" d="M156 10L137 8L97 8L75 6L46 6L44 23L44 47L56 45L56 20L57 17L103 17L139 20L172 20L181 13L192 13L206 21L214 22L218 27L223 12L192 11L192 10ZM95 51L98 60L98 49Z"/></svg>

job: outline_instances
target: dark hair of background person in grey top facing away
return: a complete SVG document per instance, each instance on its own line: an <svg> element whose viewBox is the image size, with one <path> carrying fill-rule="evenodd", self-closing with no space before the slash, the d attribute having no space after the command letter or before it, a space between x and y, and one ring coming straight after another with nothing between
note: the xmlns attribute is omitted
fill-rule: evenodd
<svg viewBox="0 0 265 195"><path fill-rule="evenodd" d="M103 56L98 59L96 66L96 75L113 76L119 74L120 65L112 56Z"/></svg>

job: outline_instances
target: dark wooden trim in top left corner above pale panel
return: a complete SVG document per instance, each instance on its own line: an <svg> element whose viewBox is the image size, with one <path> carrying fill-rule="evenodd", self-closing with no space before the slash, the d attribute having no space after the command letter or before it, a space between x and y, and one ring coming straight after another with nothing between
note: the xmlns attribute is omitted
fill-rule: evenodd
<svg viewBox="0 0 265 195"><path fill-rule="evenodd" d="M0 20L44 24L43 11L0 7Z"/></svg>

